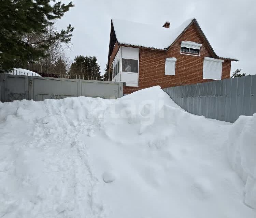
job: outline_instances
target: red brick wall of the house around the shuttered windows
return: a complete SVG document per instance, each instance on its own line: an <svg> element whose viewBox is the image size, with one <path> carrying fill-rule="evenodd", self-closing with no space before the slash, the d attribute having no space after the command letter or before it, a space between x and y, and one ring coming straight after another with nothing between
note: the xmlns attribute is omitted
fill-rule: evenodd
<svg viewBox="0 0 256 218"><path fill-rule="evenodd" d="M180 53L181 41L192 41L202 44L200 57L183 55ZM165 75L165 58L175 57L175 76ZM204 46L194 25L190 26L177 42L167 51L140 49L139 87L124 87L124 93L160 85L167 88L177 85L194 84L213 81L203 79L203 58L211 57ZM231 61L222 63L222 79L230 78Z"/></svg>

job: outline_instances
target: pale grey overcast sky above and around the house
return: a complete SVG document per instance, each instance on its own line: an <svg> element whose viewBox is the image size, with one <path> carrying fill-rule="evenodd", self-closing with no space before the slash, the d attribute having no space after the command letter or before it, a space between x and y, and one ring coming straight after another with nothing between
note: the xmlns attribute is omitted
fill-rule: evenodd
<svg viewBox="0 0 256 218"><path fill-rule="evenodd" d="M68 3L67 0L62 0ZM75 27L67 56L96 56L102 72L108 62L111 18L162 26L168 20L177 27L195 17L218 56L238 58L231 72L256 74L256 0L73 0L75 7L58 28ZM134 33L136 34L136 33Z"/></svg>

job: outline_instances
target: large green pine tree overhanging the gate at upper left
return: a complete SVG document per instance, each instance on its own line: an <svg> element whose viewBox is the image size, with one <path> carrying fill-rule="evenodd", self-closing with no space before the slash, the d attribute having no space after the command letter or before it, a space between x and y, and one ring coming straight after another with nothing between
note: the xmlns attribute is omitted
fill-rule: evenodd
<svg viewBox="0 0 256 218"><path fill-rule="evenodd" d="M74 5L55 0L0 0L0 69L8 70L17 62L37 61L48 56L45 51L56 41L71 40L71 25L66 30L51 31Z"/></svg>

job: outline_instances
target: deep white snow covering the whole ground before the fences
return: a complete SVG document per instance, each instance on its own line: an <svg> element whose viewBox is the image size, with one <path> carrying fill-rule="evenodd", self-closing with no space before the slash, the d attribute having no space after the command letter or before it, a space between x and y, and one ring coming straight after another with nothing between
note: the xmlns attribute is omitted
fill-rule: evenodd
<svg viewBox="0 0 256 218"><path fill-rule="evenodd" d="M160 87L0 103L0 217L255 218L255 115L205 119Z"/></svg>

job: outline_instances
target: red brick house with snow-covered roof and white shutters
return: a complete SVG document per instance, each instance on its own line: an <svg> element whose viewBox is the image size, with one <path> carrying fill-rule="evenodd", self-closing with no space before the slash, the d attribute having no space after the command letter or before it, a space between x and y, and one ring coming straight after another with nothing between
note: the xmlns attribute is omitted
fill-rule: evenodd
<svg viewBox="0 0 256 218"><path fill-rule="evenodd" d="M230 78L231 61L216 55L196 19L176 29L111 20L108 67L125 94Z"/></svg>

